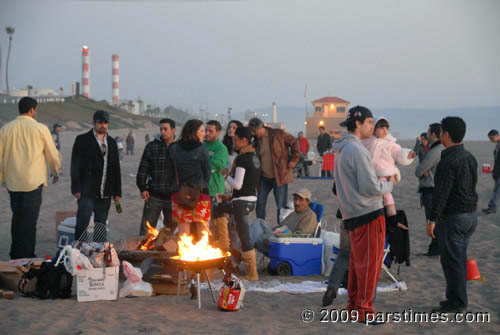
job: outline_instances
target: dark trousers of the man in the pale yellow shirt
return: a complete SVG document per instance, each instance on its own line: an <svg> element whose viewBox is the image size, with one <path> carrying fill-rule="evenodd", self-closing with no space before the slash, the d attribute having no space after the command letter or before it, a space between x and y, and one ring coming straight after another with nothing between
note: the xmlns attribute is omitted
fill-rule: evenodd
<svg viewBox="0 0 500 335"><path fill-rule="evenodd" d="M36 222L42 205L42 188L43 185L40 185L31 192L9 191L12 210L11 259L36 257Z"/></svg>

